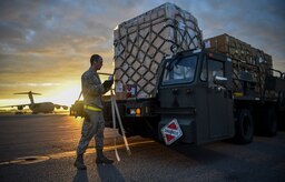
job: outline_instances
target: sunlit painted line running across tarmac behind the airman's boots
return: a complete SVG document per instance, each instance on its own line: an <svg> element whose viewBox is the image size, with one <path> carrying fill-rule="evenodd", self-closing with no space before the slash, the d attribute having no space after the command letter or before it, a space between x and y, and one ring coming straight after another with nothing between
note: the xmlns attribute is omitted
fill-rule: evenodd
<svg viewBox="0 0 285 182"><path fill-rule="evenodd" d="M148 144L148 143L155 143L154 140L148 140L148 141L142 141L142 142L135 142L135 143L129 143L129 146L135 146L135 145L140 145L140 144ZM125 144L117 144L115 145L109 145L109 146L104 146L104 151L112 151L115 149L121 149L125 148ZM96 153L95 149L87 149L86 154L90 153ZM32 164L32 163L39 163L39 162L45 162L50 159L61 159L61 158L68 158L68 156L75 156L77 155L76 151L69 151L69 152L61 152L61 153L55 153L55 154L48 154L48 155L41 155L41 156L21 156L17 158L12 161L4 161L0 162L1 165L9 165L9 164Z"/></svg>

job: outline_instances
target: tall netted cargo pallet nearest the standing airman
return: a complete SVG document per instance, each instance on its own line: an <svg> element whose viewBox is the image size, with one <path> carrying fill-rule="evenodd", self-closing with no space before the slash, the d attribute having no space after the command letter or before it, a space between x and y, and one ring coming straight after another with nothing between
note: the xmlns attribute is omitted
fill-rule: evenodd
<svg viewBox="0 0 285 182"><path fill-rule="evenodd" d="M173 3L120 23L114 31L117 99L150 98L158 65L171 46L197 49L202 40L196 18Z"/></svg>

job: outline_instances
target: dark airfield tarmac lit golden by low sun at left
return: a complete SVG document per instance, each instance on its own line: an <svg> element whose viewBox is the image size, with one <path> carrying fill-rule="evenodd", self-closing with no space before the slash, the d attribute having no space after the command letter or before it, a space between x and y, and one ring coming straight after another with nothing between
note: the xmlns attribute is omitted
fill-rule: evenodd
<svg viewBox="0 0 285 182"><path fill-rule="evenodd" d="M106 155L120 161L96 165L94 142L85 155L87 170L72 163L82 119L68 114L0 115L0 181L285 181L285 132L255 136L247 145L163 143L129 138L128 155L116 130L106 129Z"/></svg>

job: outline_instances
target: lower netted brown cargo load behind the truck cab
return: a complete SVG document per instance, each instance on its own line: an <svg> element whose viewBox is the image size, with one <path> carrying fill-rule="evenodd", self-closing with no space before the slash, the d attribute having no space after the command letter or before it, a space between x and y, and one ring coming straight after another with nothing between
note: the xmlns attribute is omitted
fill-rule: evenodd
<svg viewBox="0 0 285 182"><path fill-rule="evenodd" d="M256 95L264 94L265 75L273 73L271 71L273 68L272 55L226 33L206 39L204 43L206 49L225 53L233 59L234 80L242 79L242 71L250 72L255 83ZM235 91L242 90L242 87L243 84L239 81L234 81ZM271 95L272 93L269 92L265 93L267 98L271 98Z"/></svg>

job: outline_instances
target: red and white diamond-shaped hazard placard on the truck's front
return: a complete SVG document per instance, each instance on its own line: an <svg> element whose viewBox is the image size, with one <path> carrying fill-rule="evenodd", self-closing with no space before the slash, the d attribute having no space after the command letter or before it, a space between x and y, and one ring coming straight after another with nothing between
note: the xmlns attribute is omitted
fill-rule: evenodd
<svg viewBox="0 0 285 182"><path fill-rule="evenodd" d="M169 145L183 135L183 131L177 120L173 119L161 129L161 134L164 136L165 143Z"/></svg>

